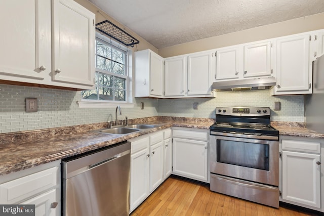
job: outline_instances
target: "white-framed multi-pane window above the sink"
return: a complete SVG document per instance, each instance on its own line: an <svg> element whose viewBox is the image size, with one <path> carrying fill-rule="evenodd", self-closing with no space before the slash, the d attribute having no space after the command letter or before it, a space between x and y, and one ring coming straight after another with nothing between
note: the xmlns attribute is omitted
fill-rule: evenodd
<svg viewBox="0 0 324 216"><path fill-rule="evenodd" d="M127 102L127 52L96 38L94 90L82 91L83 100Z"/></svg>

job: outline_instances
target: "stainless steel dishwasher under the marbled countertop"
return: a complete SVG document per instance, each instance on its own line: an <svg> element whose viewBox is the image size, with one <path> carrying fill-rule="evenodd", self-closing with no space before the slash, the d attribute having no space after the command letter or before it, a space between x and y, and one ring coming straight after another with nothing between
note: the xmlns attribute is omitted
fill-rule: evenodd
<svg viewBox="0 0 324 216"><path fill-rule="evenodd" d="M131 143L63 159L63 215L129 215Z"/></svg>

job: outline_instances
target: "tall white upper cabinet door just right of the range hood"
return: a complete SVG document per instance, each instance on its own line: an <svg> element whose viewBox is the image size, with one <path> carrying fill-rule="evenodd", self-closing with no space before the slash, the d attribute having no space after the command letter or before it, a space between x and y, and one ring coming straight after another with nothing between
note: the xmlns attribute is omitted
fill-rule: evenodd
<svg viewBox="0 0 324 216"><path fill-rule="evenodd" d="M309 35L289 36L276 41L277 85L275 93L307 94L309 87Z"/></svg>

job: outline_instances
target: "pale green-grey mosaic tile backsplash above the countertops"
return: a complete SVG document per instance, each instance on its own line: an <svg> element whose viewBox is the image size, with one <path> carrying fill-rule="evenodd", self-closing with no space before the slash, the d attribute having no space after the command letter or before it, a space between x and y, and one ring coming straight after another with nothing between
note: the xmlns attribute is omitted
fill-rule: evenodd
<svg viewBox="0 0 324 216"><path fill-rule="evenodd" d="M25 98L37 98L38 112L25 112ZM0 84L0 133L114 120L115 108L81 109L76 103L80 98L80 92ZM218 92L216 98L135 98L134 108L122 108L123 115L118 115L118 119L156 115L215 118L217 106L273 109L275 101L281 103L281 110L271 110L271 120L304 122L303 96L269 96L268 90ZM144 102L143 110L140 109L141 102ZM198 109L193 109L193 103L198 103Z"/></svg>

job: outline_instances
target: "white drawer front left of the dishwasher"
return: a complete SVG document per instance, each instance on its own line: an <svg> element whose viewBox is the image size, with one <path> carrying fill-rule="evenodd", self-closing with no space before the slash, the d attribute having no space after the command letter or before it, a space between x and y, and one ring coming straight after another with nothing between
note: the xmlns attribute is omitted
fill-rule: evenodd
<svg viewBox="0 0 324 216"><path fill-rule="evenodd" d="M53 167L1 184L0 203L16 203L55 187L57 184L57 170L58 167Z"/></svg>

